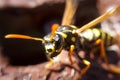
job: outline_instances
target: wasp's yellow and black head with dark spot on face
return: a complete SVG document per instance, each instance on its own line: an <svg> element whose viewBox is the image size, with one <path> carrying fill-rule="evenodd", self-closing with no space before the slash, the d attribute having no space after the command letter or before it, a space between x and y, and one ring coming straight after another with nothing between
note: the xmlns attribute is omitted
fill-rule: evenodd
<svg viewBox="0 0 120 80"><path fill-rule="evenodd" d="M63 49L63 42L64 39L62 36L56 34L51 40L51 34L48 34L44 37L45 43L45 50L48 57L55 57L57 56L61 50Z"/></svg>

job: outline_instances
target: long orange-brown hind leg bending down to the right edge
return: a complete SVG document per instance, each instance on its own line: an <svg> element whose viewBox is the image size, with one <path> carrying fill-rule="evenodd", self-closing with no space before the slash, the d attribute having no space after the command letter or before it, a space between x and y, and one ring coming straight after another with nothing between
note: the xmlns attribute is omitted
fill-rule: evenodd
<svg viewBox="0 0 120 80"><path fill-rule="evenodd" d="M100 49L101 49L100 54L101 54L101 57L104 59L107 68L113 73L120 74L120 68L118 69L117 67L112 67L108 62L106 52L105 52L105 48L104 48L104 41L102 39L99 39L99 40L96 41L95 44L100 44Z"/></svg>

